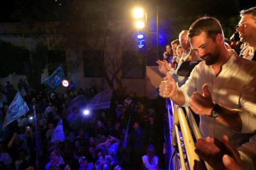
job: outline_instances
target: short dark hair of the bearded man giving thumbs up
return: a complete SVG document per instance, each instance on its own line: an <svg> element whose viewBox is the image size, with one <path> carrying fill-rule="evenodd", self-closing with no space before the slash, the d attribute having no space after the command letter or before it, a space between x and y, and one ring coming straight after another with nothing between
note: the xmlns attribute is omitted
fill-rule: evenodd
<svg viewBox="0 0 256 170"><path fill-rule="evenodd" d="M216 35L221 33L224 37L221 24L216 18L213 17L202 17L194 21L189 28L188 37L191 39L196 35L200 35L202 32L206 32L207 36L212 38L215 41Z"/></svg>

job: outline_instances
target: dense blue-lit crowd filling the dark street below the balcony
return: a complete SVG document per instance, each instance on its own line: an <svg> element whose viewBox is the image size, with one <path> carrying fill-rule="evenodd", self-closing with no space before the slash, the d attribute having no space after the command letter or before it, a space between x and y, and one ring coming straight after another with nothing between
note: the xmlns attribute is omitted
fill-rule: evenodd
<svg viewBox="0 0 256 170"><path fill-rule="evenodd" d="M0 169L117 170L159 166L156 152L162 154L163 127L156 122L156 109L148 102L144 104L145 99L118 98L110 109L91 110L90 115L83 115L77 106L69 107L76 96L92 96L82 89L73 87L66 93L55 93L45 86L35 91L22 80L18 88L30 111L1 128ZM1 86L2 124L16 93L10 82ZM39 150L33 106L37 112ZM65 140L52 142L59 120Z"/></svg>

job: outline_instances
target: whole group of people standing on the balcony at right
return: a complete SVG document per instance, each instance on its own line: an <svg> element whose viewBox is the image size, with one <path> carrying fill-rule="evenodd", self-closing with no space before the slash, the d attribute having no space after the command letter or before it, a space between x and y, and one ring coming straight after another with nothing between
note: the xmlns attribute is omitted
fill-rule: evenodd
<svg viewBox="0 0 256 170"><path fill-rule="evenodd" d="M256 169L256 7L240 17L232 43L216 18L202 17L157 61L160 96L200 116L195 152L213 169Z"/></svg>

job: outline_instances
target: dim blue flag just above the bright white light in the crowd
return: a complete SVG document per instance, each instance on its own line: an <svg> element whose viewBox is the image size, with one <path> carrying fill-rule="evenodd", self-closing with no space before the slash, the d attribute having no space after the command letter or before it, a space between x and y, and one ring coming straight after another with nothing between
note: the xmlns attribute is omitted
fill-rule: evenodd
<svg viewBox="0 0 256 170"><path fill-rule="evenodd" d="M94 96L87 108L91 110L110 108L113 90L102 91Z"/></svg>

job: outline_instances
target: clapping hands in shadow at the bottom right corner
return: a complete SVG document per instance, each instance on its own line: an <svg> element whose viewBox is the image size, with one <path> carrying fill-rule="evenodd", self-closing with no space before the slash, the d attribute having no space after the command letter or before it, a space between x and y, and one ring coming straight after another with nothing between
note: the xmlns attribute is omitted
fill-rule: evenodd
<svg viewBox="0 0 256 170"><path fill-rule="evenodd" d="M226 135L221 141L213 137L199 139L195 144L195 152L214 169L255 169L256 135L237 149Z"/></svg>

